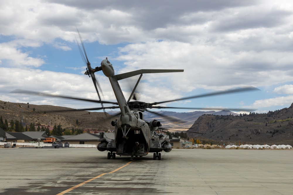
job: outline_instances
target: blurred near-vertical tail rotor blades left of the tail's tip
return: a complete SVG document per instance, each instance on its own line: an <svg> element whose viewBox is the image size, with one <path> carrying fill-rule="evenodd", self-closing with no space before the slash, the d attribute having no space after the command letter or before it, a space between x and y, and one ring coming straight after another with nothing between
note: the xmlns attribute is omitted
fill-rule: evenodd
<svg viewBox="0 0 293 195"><path fill-rule="evenodd" d="M78 49L79 49L79 52L80 52L80 55L81 57L83 58L83 60L85 61L86 65L87 65L87 68L88 68L88 73L91 75L91 78L93 80L93 84L95 85L95 88L96 88L96 92L98 94L98 97L99 99L101 100L101 97L100 97L100 93L99 93L99 90L98 90L98 87L101 91L101 93L103 94L101 88L100 88L100 85L99 85L99 82L98 80L96 79L95 77L95 74L93 72L93 69L91 68L91 63L88 61L88 56L86 55L86 49L84 47L84 42L82 41L82 38L81 38L81 34L79 33L78 29L76 28L77 32L78 32L78 35L79 35L79 39L80 39L80 42L81 42L81 46L83 48L83 51L81 50L80 46L79 46L79 43L77 42L76 40L76 43L77 43L77 46L78 46ZM103 103L102 103L102 107L103 107Z"/></svg>

